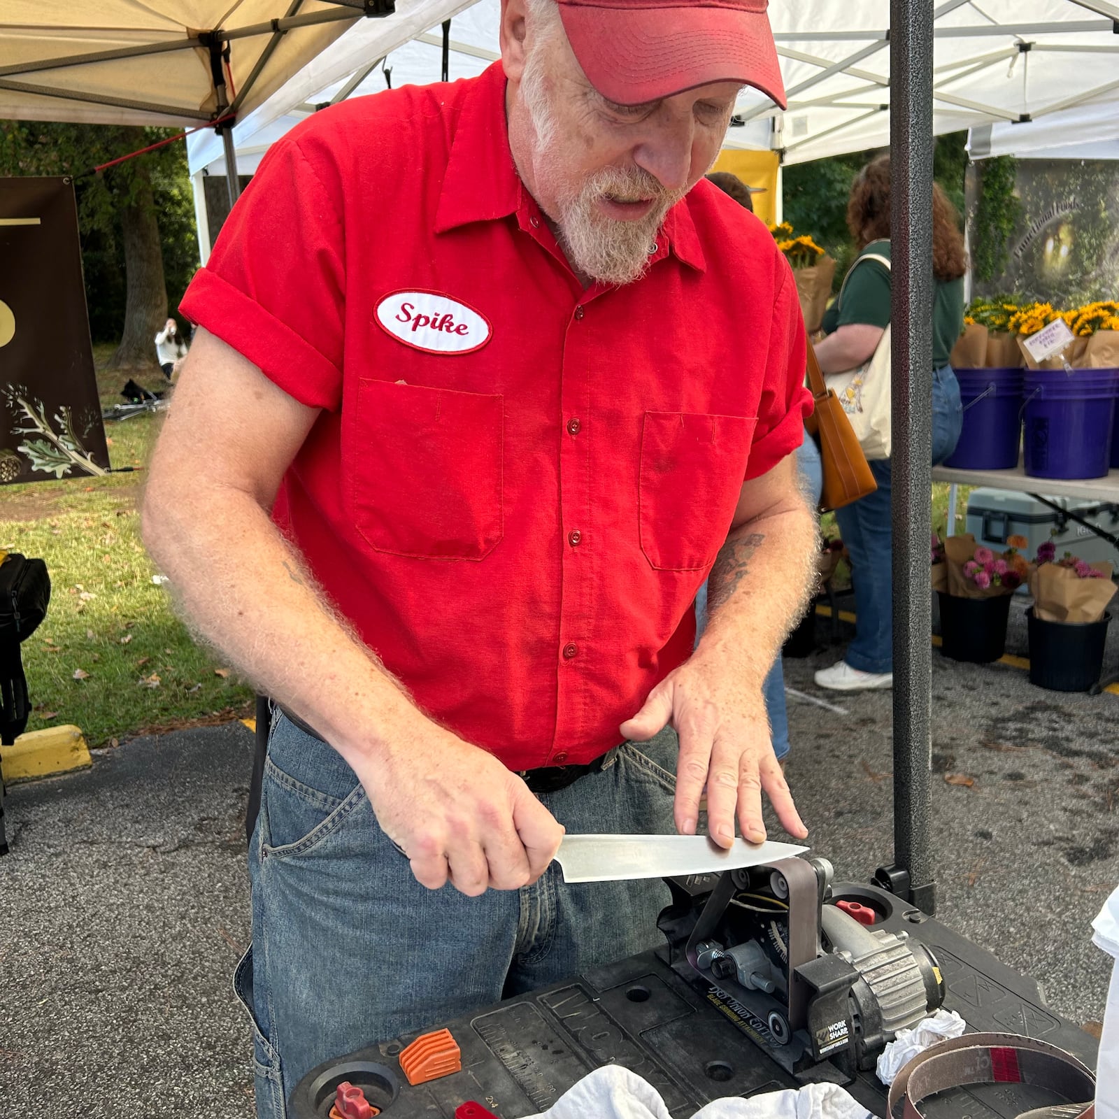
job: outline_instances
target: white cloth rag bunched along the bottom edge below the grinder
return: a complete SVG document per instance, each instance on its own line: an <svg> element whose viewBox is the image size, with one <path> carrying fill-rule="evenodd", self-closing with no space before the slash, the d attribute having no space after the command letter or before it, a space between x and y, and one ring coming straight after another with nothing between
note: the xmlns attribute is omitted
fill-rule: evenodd
<svg viewBox="0 0 1119 1119"><path fill-rule="evenodd" d="M660 1093L636 1072L606 1064L564 1092L533 1119L670 1119ZM874 1119L838 1084L807 1084L749 1100L730 1096L693 1119Z"/></svg>

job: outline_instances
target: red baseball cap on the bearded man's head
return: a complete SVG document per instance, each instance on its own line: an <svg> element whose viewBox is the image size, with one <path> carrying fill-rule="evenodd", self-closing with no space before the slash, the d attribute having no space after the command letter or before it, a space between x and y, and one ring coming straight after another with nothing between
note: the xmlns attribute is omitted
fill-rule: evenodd
<svg viewBox="0 0 1119 1119"><path fill-rule="evenodd" d="M740 82L786 107L769 0L557 2L587 81L619 105Z"/></svg>

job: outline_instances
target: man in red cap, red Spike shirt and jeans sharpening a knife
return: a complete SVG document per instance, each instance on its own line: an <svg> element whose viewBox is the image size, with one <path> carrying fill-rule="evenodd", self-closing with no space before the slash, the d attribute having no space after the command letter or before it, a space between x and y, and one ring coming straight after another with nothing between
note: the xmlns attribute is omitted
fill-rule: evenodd
<svg viewBox="0 0 1119 1119"><path fill-rule="evenodd" d="M782 96L765 0L505 0L481 77L273 145L184 300L144 533L276 702L262 1116L655 943L662 884L566 885L565 828L693 833L706 790L717 841L760 840L764 789L806 834L760 690L815 570L803 330L703 181L744 83Z"/></svg>

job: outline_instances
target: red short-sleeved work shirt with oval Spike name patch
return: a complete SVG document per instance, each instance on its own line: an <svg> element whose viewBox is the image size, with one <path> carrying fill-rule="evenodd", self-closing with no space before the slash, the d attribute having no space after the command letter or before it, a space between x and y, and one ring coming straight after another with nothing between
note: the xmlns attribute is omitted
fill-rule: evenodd
<svg viewBox="0 0 1119 1119"><path fill-rule="evenodd" d="M273 516L421 708L523 770L617 745L687 658L743 480L811 398L789 266L706 181L639 281L583 290L505 84L314 114L181 309L322 410Z"/></svg>

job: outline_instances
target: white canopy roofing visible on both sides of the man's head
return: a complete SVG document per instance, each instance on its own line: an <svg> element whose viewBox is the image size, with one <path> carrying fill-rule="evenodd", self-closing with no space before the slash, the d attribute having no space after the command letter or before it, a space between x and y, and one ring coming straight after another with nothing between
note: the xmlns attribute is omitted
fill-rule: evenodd
<svg viewBox="0 0 1119 1119"><path fill-rule="evenodd" d="M929 0L933 3L933 0ZM237 124L252 167L278 122L301 120L323 102L393 85L440 78L439 22L461 10L450 32L450 76L479 73L497 57L499 0L450 4L415 0L412 18L426 34L393 50L385 27L358 23L314 63ZM426 16L426 19L424 18ZM728 147L775 148L788 163L890 142L888 0L771 0L789 107L781 112L752 90L737 105L741 128ZM934 7L934 131L995 122L1061 120L1085 104L1090 117L1113 120L1119 98L1119 3L1106 0L941 0ZM398 39L396 39L398 44ZM1103 125L1101 125L1103 126ZM1013 142L1013 134L1009 142ZM191 144L191 172L215 168L218 145Z"/></svg>

